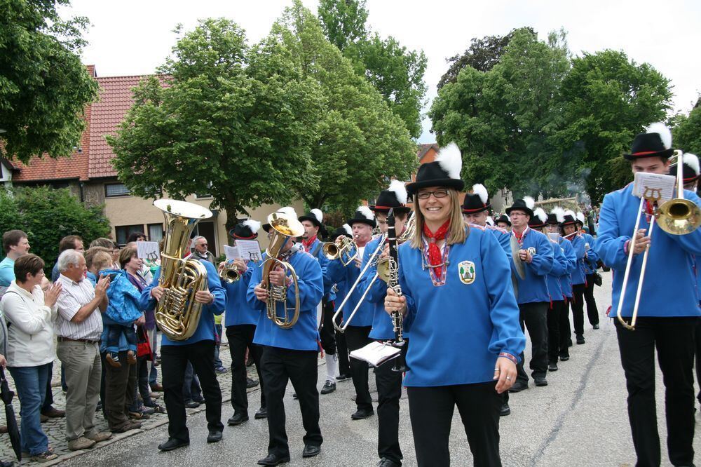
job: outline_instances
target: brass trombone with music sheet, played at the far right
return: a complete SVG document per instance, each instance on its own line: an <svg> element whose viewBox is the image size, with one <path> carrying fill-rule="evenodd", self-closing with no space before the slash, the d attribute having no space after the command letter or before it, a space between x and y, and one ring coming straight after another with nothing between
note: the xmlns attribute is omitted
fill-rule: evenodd
<svg viewBox="0 0 701 467"><path fill-rule="evenodd" d="M640 226L640 218L644 212L645 201L653 205L653 214L650 218L650 227L648 229L648 237L652 238L653 226L655 226L655 221L657 221L658 227L667 234L671 235L685 235L690 234L695 231L701 225L701 209L693 203L684 199L684 187L683 187L683 152L674 151L674 156L676 156L677 170L676 170L676 198L672 198L665 203L662 203L658 207L658 201L660 200L659 190L646 189L644 196L640 198L640 207L638 208L638 217L635 219L635 227L633 229L633 235L630 239L628 245L628 260L625 265L625 273L623 273L623 283L620 287L620 297L618 299L618 309L616 310L616 318L618 321L628 330L635 330L635 323L638 318L638 307L640 304L640 295L643 290L643 280L645 278L646 266L648 264L648 253L650 252L650 244L645 248L643 254L643 262L640 266L640 278L638 280L638 290L635 293L635 302L633 305L633 314L630 320L630 324L626 323L625 320L620 316L620 310L623 305L623 299L625 298L625 289L628 285L628 276L630 275L630 269L633 264L633 257L635 251L636 236L638 234L638 227Z"/></svg>

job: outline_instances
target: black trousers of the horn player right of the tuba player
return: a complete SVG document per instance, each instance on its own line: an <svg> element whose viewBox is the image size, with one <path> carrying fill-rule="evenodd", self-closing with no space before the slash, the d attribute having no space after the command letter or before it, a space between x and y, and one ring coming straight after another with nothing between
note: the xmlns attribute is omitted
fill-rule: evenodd
<svg viewBox="0 0 701 467"><path fill-rule="evenodd" d="M297 393L302 425L306 434L304 445L320 446L323 438L319 427L319 391L316 390L318 367L317 351L297 351L287 348L263 348L261 359L262 381L268 405L268 454L281 457L290 455L285 431L285 388L292 381Z"/></svg>

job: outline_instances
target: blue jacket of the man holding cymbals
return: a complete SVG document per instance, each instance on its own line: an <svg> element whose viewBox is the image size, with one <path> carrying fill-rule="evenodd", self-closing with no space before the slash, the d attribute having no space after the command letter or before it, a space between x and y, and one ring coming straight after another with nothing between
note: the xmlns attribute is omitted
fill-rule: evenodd
<svg viewBox="0 0 701 467"><path fill-rule="evenodd" d="M512 235L515 234L512 232ZM542 232L527 227L524 230L521 248L522 250L529 250L533 259L530 263L524 263L524 266L526 266L526 278L522 279L516 276L519 287L519 304L550 302L545 277L552 269L552 243Z"/></svg>

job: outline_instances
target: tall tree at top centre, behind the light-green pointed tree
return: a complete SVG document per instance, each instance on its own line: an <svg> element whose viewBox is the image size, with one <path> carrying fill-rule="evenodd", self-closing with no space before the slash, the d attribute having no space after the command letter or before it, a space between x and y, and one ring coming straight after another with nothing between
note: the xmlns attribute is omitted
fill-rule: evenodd
<svg viewBox="0 0 701 467"><path fill-rule="evenodd" d="M355 72L379 90L412 137L421 135L426 96L426 55L392 36L370 33L365 0L321 0L318 16L327 39L353 62Z"/></svg>

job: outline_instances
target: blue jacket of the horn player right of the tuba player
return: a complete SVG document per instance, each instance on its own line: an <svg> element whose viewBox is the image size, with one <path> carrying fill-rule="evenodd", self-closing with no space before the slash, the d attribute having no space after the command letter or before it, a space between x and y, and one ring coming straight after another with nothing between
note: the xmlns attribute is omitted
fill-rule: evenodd
<svg viewBox="0 0 701 467"><path fill-rule="evenodd" d="M264 255L266 259L267 254ZM292 350L316 351L319 348L319 330L316 324L316 307L324 295L324 279L319 262L304 250L299 250L287 260L297 273L299 286L299 320L290 329L282 329L268 319L266 304L256 298L254 289L261 283L262 267L252 271L248 285L247 300L249 306L261 310L253 341L261 346L290 348ZM278 303L275 313L284 316L283 307L294 308L294 287L287 287L287 301ZM290 313L291 316L291 313Z"/></svg>

